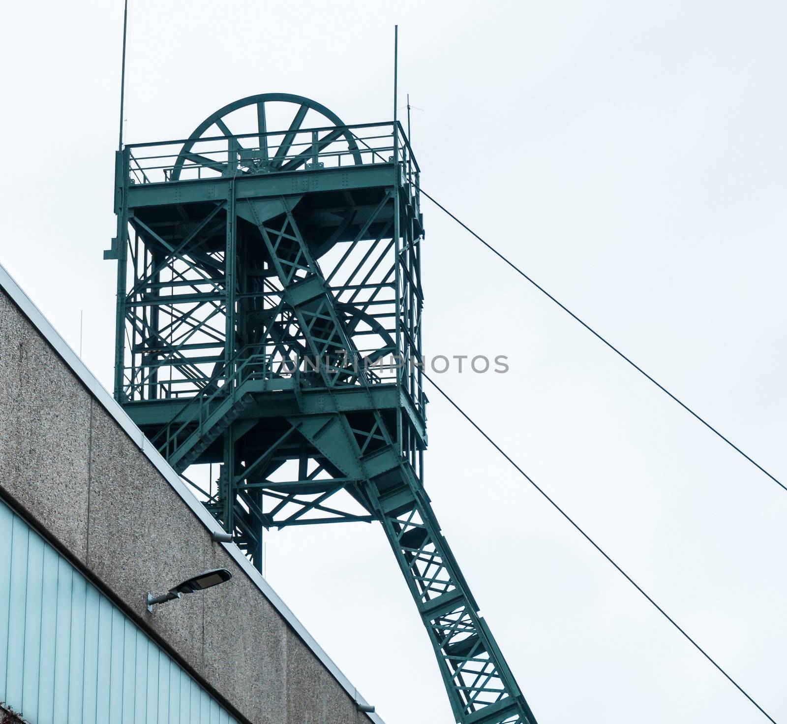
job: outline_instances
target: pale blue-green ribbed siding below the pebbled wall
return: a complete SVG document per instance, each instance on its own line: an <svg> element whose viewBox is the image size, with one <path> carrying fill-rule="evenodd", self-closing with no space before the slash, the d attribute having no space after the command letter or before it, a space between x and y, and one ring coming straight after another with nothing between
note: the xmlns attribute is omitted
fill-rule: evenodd
<svg viewBox="0 0 787 724"><path fill-rule="evenodd" d="M0 702L32 724L237 724L2 501Z"/></svg>

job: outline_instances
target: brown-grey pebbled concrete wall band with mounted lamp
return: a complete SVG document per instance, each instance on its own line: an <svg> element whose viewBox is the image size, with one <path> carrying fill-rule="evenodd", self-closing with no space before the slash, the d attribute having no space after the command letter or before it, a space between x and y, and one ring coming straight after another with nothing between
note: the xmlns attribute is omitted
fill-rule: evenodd
<svg viewBox="0 0 787 724"><path fill-rule="evenodd" d="M242 718L382 724L0 272L0 495ZM146 592L212 567L232 580L146 611Z"/></svg>

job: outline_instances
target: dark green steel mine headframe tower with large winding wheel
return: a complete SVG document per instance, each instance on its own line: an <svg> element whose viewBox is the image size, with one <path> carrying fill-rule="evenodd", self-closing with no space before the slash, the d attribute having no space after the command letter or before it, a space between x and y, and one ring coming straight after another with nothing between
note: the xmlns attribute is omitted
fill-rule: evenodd
<svg viewBox="0 0 787 724"><path fill-rule="evenodd" d="M456 722L534 724L423 488L423 217L401 125L243 98L188 139L120 150L115 211L117 401L257 568L272 526L381 523Z"/></svg>

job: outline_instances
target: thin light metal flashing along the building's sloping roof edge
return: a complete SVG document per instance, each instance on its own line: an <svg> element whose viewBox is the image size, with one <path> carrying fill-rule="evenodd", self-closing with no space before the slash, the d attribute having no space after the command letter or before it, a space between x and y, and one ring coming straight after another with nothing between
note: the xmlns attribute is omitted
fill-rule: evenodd
<svg viewBox="0 0 787 724"><path fill-rule="evenodd" d="M90 369L87 369L87 366L82 362L81 359L76 355L76 353L72 350L71 347L68 346L68 343L60 336L60 334L54 329L54 327L50 324L50 321L44 317L41 313L41 310L31 301L30 297L24 293L22 288L20 288L19 284L13 277L6 271L6 268L0 264L0 287L9 297L13 300L13 302L22 310L22 313L25 317L28 317L28 320L31 321L31 324L35 326L36 329L41 333L47 343L53 347L54 351L57 352L57 355L60 355L63 362L71 369L71 371L79 378L79 381L87 387L87 389L91 392L96 400L102 404L105 410L112 415L118 425L124 429L125 433L131 440L135 442L135 444L139 447L139 449L150 459L150 462L156 466L159 473L166 479L169 485L174 488L177 494L183 499L183 502L187 504L190 510L200 519L205 528L209 530L210 533L224 533L224 529L216 522L216 519L212 517L212 515L205 510L205 507L202 503L197 499L196 496L190 491L189 488L183 483L180 479L178 473L169 466L168 462L162 457L161 453L157 451L152 444L150 444L150 440L147 439L142 430L135 425L135 423L131 420L131 418L126 414L122 407L118 403L116 403L115 399L112 395L107 392L104 386L98 381L98 379L91 373ZM323 663L323 666L327 668L331 672L331 675L338 681L342 688L347 692L353 701L355 701L360 706L368 706L368 702L364 699L363 696L360 696L357 689L350 683L349 679L342 674L342 670L336 666L333 662L331 657L327 655L326 652L320 647L320 644L317 644L316 640L312 637L312 635L305 629L303 624L298 621L295 614L290 611L290 608L287 607L286 603L284 603L279 595L273 590L271 585L268 584L268 581L265 581L262 574L252 566L251 562L246 559L246 556L242 554L240 548L235 543L221 543L220 545L224 546L224 549L227 551L229 555L231 555L232 559L242 568L242 570L246 573L249 579L253 582L254 585L259 588L260 592L274 605L277 611L282 614L283 618L286 622L294 629L295 633L304 641L304 643L311 649L312 653L316 655L320 662ZM371 719L372 722L375 724L385 724L382 718L376 713L368 713L367 716Z"/></svg>

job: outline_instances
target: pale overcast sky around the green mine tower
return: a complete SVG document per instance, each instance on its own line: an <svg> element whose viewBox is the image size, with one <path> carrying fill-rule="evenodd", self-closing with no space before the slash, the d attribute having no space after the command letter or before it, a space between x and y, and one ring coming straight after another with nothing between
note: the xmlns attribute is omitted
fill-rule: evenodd
<svg viewBox="0 0 787 724"><path fill-rule="evenodd" d="M122 4L3 15L0 262L111 388ZM126 140L268 91L389 120L394 23L423 188L787 478L787 5L131 0ZM423 206L427 355L510 364L445 389L787 721L787 492ZM430 399L427 490L541 724L765 721ZM388 724L451 721L377 525L271 533L268 579Z"/></svg>

